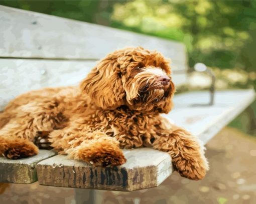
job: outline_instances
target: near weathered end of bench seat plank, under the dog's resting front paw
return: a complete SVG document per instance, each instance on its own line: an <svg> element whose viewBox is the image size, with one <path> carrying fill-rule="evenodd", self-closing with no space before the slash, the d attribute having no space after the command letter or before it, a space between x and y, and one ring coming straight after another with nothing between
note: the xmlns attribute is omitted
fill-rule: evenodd
<svg viewBox="0 0 256 204"><path fill-rule="evenodd" d="M172 172L167 153L151 148L123 150L127 162L110 168L57 155L37 164L43 185L132 191L158 186ZM150 159L149 159L150 158Z"/></svg>

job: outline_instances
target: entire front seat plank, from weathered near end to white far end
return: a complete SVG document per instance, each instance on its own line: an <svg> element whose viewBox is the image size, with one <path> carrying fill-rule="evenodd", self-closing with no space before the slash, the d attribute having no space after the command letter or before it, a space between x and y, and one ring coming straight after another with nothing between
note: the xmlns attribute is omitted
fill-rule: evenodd
<svg viewBox="0 0 256 204"><path fill-rule="evenodd" d="M174 110L165 115L206 143L253 100L253 90L218 91L213 106L194 106L209 102L208 92L175 96ZM159 185L172 172L165 152L150 148L123 150L127 162L115 168L92 167L84 162L54 156L37 165L43 185L131 191Z"/></svg>

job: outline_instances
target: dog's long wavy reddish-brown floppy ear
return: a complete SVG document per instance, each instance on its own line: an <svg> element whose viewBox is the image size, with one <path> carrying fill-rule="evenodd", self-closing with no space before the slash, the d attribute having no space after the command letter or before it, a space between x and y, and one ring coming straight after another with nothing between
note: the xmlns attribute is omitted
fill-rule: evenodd
<svg viewBox="0 0 256 204"><path fill-rule="evenodd" d="M119 65L115 59L100 61L80 84L82 94L88 94L103 109L115 109L124 104Z"/></svg>

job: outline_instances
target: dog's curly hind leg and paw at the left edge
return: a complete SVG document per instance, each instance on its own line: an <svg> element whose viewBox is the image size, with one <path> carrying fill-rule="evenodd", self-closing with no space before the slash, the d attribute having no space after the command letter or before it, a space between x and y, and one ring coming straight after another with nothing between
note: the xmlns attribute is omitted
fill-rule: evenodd
<svg viewBox="0 0 256 204"><path fill-rule="evenodd" d="M38 148L31 141L38 133L62 125L65 117L61 110L55 100L33 102L13 110L15 117L0 129L0 156L16 159L37 154Z"/></svg>

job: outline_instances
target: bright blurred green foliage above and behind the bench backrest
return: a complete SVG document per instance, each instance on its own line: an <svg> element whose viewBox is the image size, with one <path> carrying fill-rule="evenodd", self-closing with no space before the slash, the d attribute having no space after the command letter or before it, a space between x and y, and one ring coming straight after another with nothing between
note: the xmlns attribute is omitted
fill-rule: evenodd
<svg viewBox="0 0 256 204"><path fill-rule="evenodd" d="M182 41L189 63L254 71L256 2L133 1L115 4L113 26Z"/></svg>

